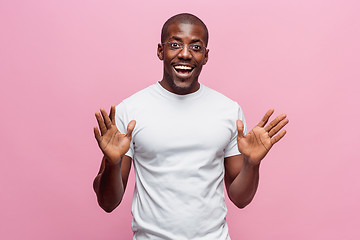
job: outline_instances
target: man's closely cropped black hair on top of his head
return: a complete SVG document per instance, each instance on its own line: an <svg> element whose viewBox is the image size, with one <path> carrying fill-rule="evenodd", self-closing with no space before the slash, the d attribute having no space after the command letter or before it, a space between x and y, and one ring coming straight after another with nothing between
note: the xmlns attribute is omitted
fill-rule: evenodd
<svg viewBox="0 0 360 240"><path fill-rule="evenodd" d="M200 18L197 16L191 14L191 13L179 13L175 16L172 16L169 18L163 25L161 29L161 43L164 43L166 40L166 36L168 34L168 28L173 23L189 23L189 24L199 24L201 25L205 30L205 46L207 46L209 41L209 31L203 21L201 21Z"/></svg>

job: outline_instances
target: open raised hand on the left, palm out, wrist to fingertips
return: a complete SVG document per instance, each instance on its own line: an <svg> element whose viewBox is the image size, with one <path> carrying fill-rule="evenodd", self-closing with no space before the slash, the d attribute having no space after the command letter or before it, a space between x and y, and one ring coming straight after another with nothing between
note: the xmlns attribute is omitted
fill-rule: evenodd
<svg viewBox="0 0 360 240"><path fill-rule="evenodd" d="M126 134L122 134L115 125L115 106L111 106L109 116L104 109L100 109L100 113L95 113L100 128L99 132L99 129L94 127L95 138L109 163L117 164L130 148L131 134L136 122L130 121Z"/></svg>

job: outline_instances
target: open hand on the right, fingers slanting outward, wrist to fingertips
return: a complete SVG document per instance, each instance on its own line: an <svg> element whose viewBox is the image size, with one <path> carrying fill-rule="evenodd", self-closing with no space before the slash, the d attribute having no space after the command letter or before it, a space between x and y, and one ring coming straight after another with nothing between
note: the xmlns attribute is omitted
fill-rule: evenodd
<svg viewBox="0 0 360 240"><path fill-rule="evenodd" d="M236 122L239 151L244 155L244 159L251 164L260 164L261 160L266 156L272 146L286 134L285 130L278 133L289 122L285 114L279 115L266 125L273 113L273 109L269 110L259 124L246 135L243 133L244 125L242 121L237 120Z"/></svg>

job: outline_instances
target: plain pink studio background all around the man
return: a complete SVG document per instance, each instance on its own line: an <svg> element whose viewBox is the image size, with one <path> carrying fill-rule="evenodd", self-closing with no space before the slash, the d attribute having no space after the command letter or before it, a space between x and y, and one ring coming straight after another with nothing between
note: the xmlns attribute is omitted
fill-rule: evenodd
<svg viewBox="0 0 360 240"><path fill-rule="evenodd" d="M229 201L232 239L360 239L359 1L0 0L1 239L130 239L131 175L107 214L92 181L94 113L161 79L160 29L180 12L210 31L200 81L268 108L288 134L254 201Z"/></svg>

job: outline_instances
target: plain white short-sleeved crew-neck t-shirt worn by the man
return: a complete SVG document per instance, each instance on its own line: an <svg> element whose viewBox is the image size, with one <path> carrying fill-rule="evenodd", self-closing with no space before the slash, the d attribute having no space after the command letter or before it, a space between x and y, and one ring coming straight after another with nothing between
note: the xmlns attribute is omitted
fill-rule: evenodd
<svg viewBox="0 0 360 240"><path fill-rule="evenodd" d="M121 133L136 120L126 153L136 176L133 239L230 239L224 157L240 154L237 119L246 126L236 102L202 84L177 95L156 83L116 107Z"/></svg>

